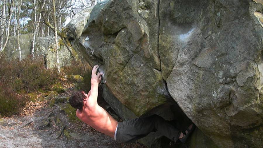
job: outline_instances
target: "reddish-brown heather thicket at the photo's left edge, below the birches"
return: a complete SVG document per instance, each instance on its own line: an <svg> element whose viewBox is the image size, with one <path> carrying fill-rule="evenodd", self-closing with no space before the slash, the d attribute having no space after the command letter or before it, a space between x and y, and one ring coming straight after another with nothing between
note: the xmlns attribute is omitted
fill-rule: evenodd
<svg viewBox="0 0 263 148"><path fill-rule="evenodd" d="M28 57L19 62L0 55L1 115L19 113L29 101L30 95L26 93L51 90L51 85L58 81L57 70L46 69L43 61L41 57Z"/></svg>

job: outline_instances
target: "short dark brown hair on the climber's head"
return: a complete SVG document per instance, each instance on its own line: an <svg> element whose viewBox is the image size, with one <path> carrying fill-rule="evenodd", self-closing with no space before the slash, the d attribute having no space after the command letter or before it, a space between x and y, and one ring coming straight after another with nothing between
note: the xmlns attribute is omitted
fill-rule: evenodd
<svg viewBox="0 0 263 148"><path fill-rule="evenodd" d="M85 99L85 97L86 96L84 95L84 91L73 92L69 99L70 105L75 109L79 109L80 111L82 111L82 107L84 105L83 99Z"/></svg>

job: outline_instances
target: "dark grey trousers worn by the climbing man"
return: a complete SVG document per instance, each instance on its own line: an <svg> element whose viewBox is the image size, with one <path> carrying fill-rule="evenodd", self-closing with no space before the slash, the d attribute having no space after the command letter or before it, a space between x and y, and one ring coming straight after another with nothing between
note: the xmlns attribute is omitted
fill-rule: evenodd
<svg viewBox="0 0 263 148"><path fill-rule="evenodd" d="M134 142L147 136L150 132L159 131L165 137L176 142L180 135L179 130L168 122L158 115L119 122L117 141L123 143Z"/></svg>

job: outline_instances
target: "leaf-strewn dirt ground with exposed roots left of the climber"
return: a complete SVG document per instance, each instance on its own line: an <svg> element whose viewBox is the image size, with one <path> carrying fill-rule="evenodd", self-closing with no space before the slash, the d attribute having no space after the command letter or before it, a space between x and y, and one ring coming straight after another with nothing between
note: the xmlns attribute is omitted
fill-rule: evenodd
<svg viewBox="0 0 263 148"><path fill-rule="evenodd" d="M58 96L31 101L20 115L0 116L0 147L147 148L138 142L118 143L81 121L71 121L64 108L73 90L71 86ZM109 111L108 104L100 105Z"/></svg>

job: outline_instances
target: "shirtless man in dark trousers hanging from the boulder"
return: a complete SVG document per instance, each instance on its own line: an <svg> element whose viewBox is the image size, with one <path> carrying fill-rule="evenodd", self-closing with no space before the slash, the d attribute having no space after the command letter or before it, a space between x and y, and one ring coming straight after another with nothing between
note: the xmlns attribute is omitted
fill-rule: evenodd
<svg viewBox="0 0 263 148"><path fill-rule="evenodd" d="M191 124L185 132L180 132L158 115L146 118L136 118L129 121L117 122L110 114L97 103L98 85L102 73L97 73L99 66L94 66L91 74L91 90L88 94L83 91L73 92L70 105L77 109L76 116L92 128L102 132L118 142L134 142L145 137L150 132L160 131L163 135L176 142L178 139L185 142L193 131ZM174 123L175 124L175 123Z"/></svg>

